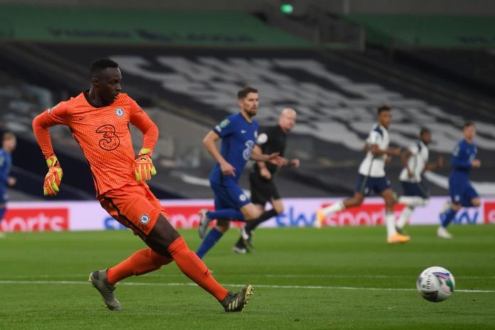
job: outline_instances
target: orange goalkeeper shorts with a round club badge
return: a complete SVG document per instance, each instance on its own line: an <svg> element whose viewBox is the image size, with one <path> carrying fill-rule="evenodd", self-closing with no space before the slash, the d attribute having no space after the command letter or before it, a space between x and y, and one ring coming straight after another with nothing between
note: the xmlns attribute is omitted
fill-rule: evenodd
<svg viewBox="0 0 495 330"><path fill-rule="evenodd" d="M147 238L160 214L169 218L149 186L123 186L98 196L102 208L112 218L131 229L134 235Z"/></svg>

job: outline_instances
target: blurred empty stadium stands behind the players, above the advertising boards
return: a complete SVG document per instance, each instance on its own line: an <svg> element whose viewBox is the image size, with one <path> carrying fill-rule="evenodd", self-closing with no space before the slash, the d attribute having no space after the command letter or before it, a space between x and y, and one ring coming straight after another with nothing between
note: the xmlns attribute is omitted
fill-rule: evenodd
<svg viewBox="0 0 495 330"><path fill-rule="evenodd" d="M347 196L376 107L393 107L391 142L432 130L430 159L449 161L472 120L481 195L495 195L495 2L489 0L0 0L0 131L18 137L11 201L42 200L46 165L31 132L39 112L90 85L88 68L116 60L122 87L158 124L150 186L159 198L212 198L201 140L260 90L257 120L293 107L297 125L284 197ZM51 130L64 169L57 200L94 200L90 171L67 127ZM141 134L133 132L134 146ZM400 191L401 165L387 168ZM248 171L248 168L246 169ZM449 166L426 176L447 196ZM248 188L248 176L241 186Z"/></svg>

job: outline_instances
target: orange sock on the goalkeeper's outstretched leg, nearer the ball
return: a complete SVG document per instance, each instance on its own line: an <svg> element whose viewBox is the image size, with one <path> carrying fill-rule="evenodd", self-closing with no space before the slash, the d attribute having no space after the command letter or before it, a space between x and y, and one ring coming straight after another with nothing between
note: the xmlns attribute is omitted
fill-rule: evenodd
<svg viewBox="0 0 495 330"><path fill-rule="evenodd" d="M181 271L196 282L200 287L210 292L218 301L227 297L228 290L215 281L208 267L193 251L189 250L186 241L179 237L169 246L169 252Z"/></svg>

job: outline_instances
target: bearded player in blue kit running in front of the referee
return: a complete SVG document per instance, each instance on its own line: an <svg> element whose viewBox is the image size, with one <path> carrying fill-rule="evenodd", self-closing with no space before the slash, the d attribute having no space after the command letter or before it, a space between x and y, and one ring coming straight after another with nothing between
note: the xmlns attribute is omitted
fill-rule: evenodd
<svg viewBox="0 0 495 330"><path fill-rule="evenodd" d="M262 215L238 184L248 160L270 161L278 166L284 162L278 153L267 155L253 152L258 128L258 123L254 119L258 107L257 90L252 87L239 90L238 102L240 112L223 119L203 139L206 150L217 164L210 175L210 186L215 194L215 211L200 211L198 231L199 236L204 238L196 251L196 255L200 258L220 240L230 227L230 221L255 220ZM215 144L218 139L222 139L220 151ZM217 223L206 235L208 225L213 219L216 219Z"/></svg>

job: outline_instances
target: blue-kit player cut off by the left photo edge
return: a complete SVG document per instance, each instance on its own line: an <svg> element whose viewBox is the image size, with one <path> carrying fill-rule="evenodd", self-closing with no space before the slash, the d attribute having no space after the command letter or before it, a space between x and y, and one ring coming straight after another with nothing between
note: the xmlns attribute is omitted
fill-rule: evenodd
<svg viewBox="0 0 495 330"><path fill-rule="evenodd" d="M11 154L14 149L16 149L16 136L11 132L4 133L2 148L0 149L0 222L4 219L7 211L7 201L9 200L7 186L16 184L16 179L9 176L12 167ZM0 232L0 238L3 236L4 234Z"/></svg>

